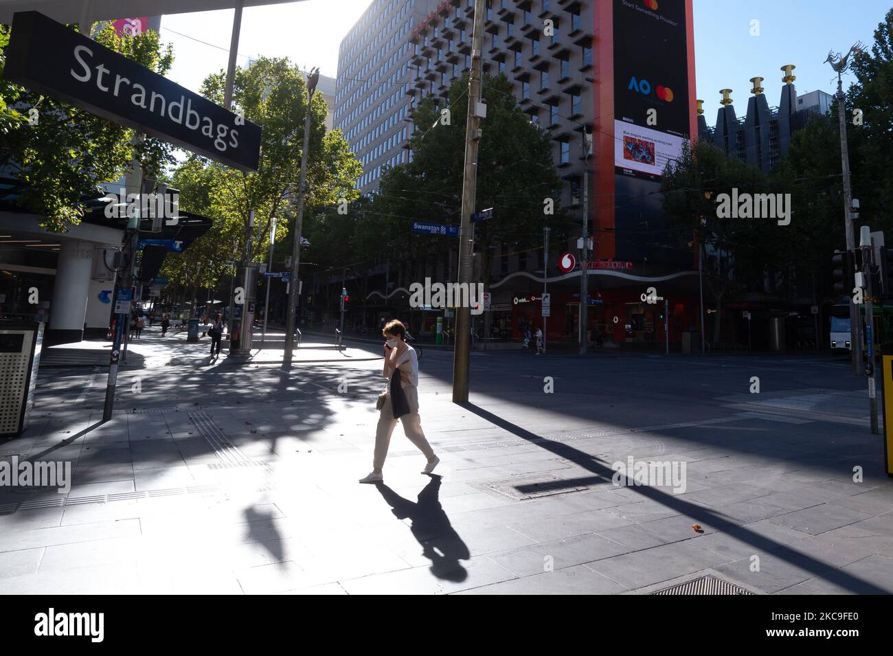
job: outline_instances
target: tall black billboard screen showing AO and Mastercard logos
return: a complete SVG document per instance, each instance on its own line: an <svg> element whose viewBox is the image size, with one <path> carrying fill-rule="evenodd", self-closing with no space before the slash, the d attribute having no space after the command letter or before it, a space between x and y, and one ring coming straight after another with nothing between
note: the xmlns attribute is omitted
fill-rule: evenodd
<svg viewBox="0 0 893 656"><path fill-rule="evenodd" d="M685 3L613 0L614 167L660 179L689 138Z"/></svg>

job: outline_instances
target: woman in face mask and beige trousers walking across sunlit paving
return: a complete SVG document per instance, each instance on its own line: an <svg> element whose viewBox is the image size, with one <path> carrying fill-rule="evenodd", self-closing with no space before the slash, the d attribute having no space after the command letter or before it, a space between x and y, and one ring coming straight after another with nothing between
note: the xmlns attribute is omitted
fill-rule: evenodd
<svg viewBox="0 0 893 656"><path fill-rule="evenodd" d="M390 382L386 393L380 396L379 425L375 431L375 455L372 471L360 483L380 483L384 480L381 469L388 455L391 433L396 420L403 424L403 432L409 441L428 459L422 474L430 474L438 466L440 459L434 455L431 445L421 431L419 417L419 360L415 349L406 344L406 327L397 320L389 321L381 333L388 340L385 345L385 367L382 375Z"/></svg>

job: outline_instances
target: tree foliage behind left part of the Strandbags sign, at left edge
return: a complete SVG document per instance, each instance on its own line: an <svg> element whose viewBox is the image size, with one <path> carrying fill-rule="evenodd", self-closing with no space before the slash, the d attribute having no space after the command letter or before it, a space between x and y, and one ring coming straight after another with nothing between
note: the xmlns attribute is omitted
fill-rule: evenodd
<svg viewBox="0 0 893 656"><path fill-rule="evenodd" d="M157 32L125 37L106 23L96 41L157 73L173 62L171 46L162 46ZM0 52L0 74L4 63ZM77 225L83 198L121 178L134 155L150 176L171 162L171 145L151 137L131 143L134 130L70 104L5 82L0 96L0 165L10 165L24 183L19 204L43 217L45 228Z"/></svg>

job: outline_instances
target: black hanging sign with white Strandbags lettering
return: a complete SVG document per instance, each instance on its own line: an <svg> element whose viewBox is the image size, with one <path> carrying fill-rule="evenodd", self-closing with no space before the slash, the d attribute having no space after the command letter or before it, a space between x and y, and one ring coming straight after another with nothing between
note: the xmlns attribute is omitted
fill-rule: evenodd
<svg viewBox="0 0 893 656"><path fill-rule="evenodd" d="M40 12L16 12L4 78L210 157L257 170L261 128Z"/></svg>

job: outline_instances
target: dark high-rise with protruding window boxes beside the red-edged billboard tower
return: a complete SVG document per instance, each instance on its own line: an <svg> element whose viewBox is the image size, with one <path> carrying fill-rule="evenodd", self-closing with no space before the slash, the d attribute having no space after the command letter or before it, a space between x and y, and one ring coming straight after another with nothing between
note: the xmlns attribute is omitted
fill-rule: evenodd
<svg viewBox="0 0 893 656"><path fill-rule="evenodd" d="M446 99L471 67L475 1L444 0L413 29L411 105L427 95ZM484 73L505 75L530 121L551 134L561 204L579 208L592 134L592 3L490 0L484 30Z"/></svg>

